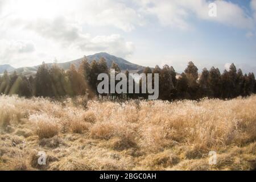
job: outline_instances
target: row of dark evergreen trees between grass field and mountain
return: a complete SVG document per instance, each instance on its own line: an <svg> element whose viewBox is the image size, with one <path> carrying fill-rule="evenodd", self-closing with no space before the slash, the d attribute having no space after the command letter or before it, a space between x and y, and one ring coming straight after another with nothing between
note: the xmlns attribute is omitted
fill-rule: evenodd
<svg viewBox="0 0 256 182"><path fill-rule="evenodd" d="M111 69L115 73L120 73L118 65L113 62ZM43 63L38 68L35 77L27 78L18 75L15 71L9 75L7 71L0 77L1 94L18 94L24 97L74 97L86 96L88 98L109 98L113 99L137 99L147 98L147 93L141 94L101 94L97 93L97 85L100 81L97 77L100 73L110 74L110 69L106 60L93 60L92 63L84 57L78 69L71 65L68 71L64 71L53 64L51 68ZM218 68L204 68L201 74L195 64L190 61L187 68L181 75L177 75L173 67L164 65L161 69L158 65L154 69L145 68L143 73L159 74L159 99L161 100L197 100L203 97L209 98L234 98L238 96L250 96L256 92L256 82L254 73L243 75L241 69L236 68L234 64L230 65L229 71L222 74ZM125 72L128 78L129 71ZM153 77L154 79L154 77ZM127 83L128 84L128 83ZM134 81L134 85L142 82Z"/></svg>

